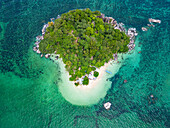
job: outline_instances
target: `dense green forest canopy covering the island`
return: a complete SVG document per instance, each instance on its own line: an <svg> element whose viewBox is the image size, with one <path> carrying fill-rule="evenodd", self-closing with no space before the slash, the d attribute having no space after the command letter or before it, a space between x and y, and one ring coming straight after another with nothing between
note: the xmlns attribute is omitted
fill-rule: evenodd
<svg viewBox="0 0 170 128"><path fill-rule="evenodd" d="M76 9L64 13L54 24L49 22L44 39L40 42L42 53L60 54L70 80L95 71L114 59L113 54L127 52L129 37L98 18L99 11ZM95 71L95 76L99 74ZM83 84L88 84L87 78ZM78 84L77 84L78 85Z"/></svg>

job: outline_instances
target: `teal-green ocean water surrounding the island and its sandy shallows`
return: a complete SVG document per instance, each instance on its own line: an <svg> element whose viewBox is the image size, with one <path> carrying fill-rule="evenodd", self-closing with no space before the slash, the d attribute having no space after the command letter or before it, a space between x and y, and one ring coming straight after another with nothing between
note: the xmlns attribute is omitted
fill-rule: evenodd
<svg viewBox="0 0 170 128"><path fill-rule="evenodd" d="M67 102L59 65L32 50L44 23L77 8L99 10L138 32L135 53L91 106ZM143 32L148 18L161 24ZM1 0L0 128L170 128L170 0Z"/></svg>

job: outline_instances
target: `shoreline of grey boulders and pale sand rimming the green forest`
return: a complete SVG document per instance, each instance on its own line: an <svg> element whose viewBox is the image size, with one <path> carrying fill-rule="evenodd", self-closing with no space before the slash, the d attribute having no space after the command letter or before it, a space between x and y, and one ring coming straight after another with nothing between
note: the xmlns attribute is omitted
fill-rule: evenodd
<svg viewBox="0 0 170 128"><path fill-rule="evenodd" d="M52 54L45 54L45 58L50 58L55 62L58 62L60 71L61 71L61 81L58 84L59 92L62 96L71 104L74 105L93 105L99 102L102 98L104 98L107 94L107 91L111 88L111 81L108 78L113 77L122 66L122 62L129 57L128 53L131 52L135 48L135 36L138 35L136 32L136 28L129 28L125 29L123 23L117 23L112 17L105 17L104 14L101 15L103 20L110 23L108 19L112 20L112 24L114 24L114 29L118 29L122 32L125 32L127 36L130 38L130 42L127 45L129 50L126 53L114 53L113 57L114 60L110 60L108 63L105 63L104 66L97 68L96 71L99 73L98 77L93 77L91 80L89 74L88 85L79 84L78 86L75 85L75 81L70 81L69 72L66 71L64 62L62 58L59 58L59 55L56 54L56 51ZM53 20L51 20L53 22ZM33 47L33 50L43 57L39 50L39 43L41 40L44 39L44 34L46 28L48 27L47 24L43 26L42 29L42 36L36 37L36 47ZM123 56L123 57L122 57ZM124 59L123 59L124 58ZM120 62L120 63L119 63ZM111 71L111 74L107 73L106 70ZM93 74L93 72L91 72ZM81 78L82 79L82 78ZM77 80L76 80L77 81ZM78 82L82 80L78 79Z"/></svg>

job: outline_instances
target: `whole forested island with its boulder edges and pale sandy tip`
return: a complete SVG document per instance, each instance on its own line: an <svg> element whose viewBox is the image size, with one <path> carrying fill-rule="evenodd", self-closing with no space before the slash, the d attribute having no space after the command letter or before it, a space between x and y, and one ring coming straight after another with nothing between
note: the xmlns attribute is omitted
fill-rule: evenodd
<svg viewBox="0 0 170 128"><path fill-rule="evenodd" d="M136 55L137 35L136 28L125 29L99 11L76 9L45 23L33 51L57 64L56 83L67 101L92 105L105 97L111 88L108 79L124 60Z"/></svg>

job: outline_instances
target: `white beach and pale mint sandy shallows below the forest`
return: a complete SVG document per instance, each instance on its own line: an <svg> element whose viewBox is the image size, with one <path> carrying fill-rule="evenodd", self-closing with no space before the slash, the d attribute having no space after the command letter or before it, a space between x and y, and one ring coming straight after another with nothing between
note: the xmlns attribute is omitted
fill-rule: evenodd
<svg viewBox="0 0 170 128"><path fill-rule="evenodd" d="M120 61L119 57L119 61ZM100 68L99 76L95 81L90 81L87 86L76 87L73 82L69 81L69 74L64 68L62 60L57 60L61 68L61 82L59 83L59 91L62 96L71 104L74 105L93 105L104 98L107 91L111 87L111 81L106 81L107 78L113 77L120 69L122 63L108 63ZM109 70L112 74L108 74L105 70Z"/></svg>

